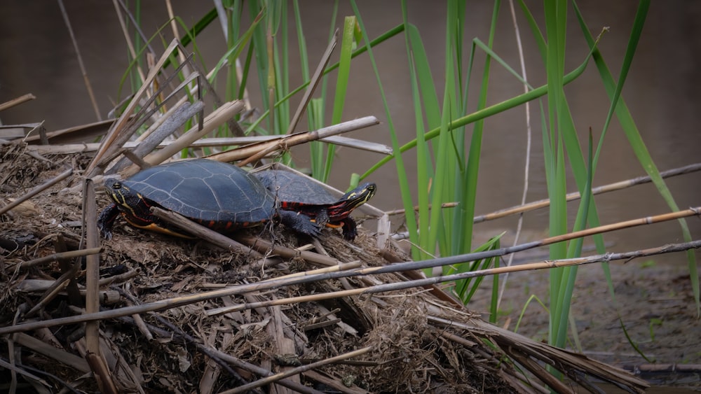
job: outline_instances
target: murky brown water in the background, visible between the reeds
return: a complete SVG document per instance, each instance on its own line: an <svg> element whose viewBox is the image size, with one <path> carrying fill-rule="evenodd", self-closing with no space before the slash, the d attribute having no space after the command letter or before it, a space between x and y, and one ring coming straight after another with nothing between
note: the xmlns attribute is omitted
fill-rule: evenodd
<svg viewBox="0 0 701 394"><path fill-rule="evenodd" d="M119 99L119 83L127 67L124 40L114 9L109 2L65 3L100 110L106 114L114 101ZM174 3L175 12L181 15L186 24L198 20L211 7L210 3ZM360 1L359 5L371 36L377 36L401 22L398 3ZM142 6L144 31L152 34L168 19L165 7L162 3L151 1L143 2ZM538 4L531 6L536 7ZM601 41L600 48L612 72L617 74L625 52L627 35L632 26L636 3L599 0L582 2L580 6L583 7L583 13L594 34L601 27L611 27L611 31ZM320 0L304 1L301 2L301 7L303 20L307 22L304 33L309 45L308 53L311 59L317 59L326 45L328 27L325 21L329 20L331 15L332 3ZM470 12L467 15L467 38L478 36L486 41L491 3L470 3L468 9ZM351 13L350 6L342 3L336 24L340 25L343 15ZM533 13L536 17L542 15L542 12L536 9L533 9ZM0 14L6 15L4 22L0 24L0 50L4 54L0 67L0 101L27 92L32 92L38 97L35 101L4 111L0 114L1 120L6 124L46 120L49 130L93 122L95 115L88 101L73 45L57 3L48 2L43 3L41 7L30 7L26 1L6 0L0 3ZM444 14L444 3L409 1L409 19L421 31L426 50L430 59L433 59L432 66L435 79L439 81L439 90L443 69L441 59L444 48L441 43L445 34ZM568 37L567 48L568 70L582 62L587 54L573 13L570 13L569 17L571 34ZM697 1L678 2L674 6L667 6L663 2L653 3L634 66L623 91L623 97L637 121L648 149L661 170L697 161L697 148L701 145L701 133L697 132L697 127L701 124L697 94L697 69L701 56L701 27L697 20L700 17L701 5ZM525 21L519 20L519 23L527 35ZM506 7L500 14L499 27L495 50L517 69L514 33ZM164 34L168 36L168 30L164 31ZM169 39L166 38L166 41ZM292 45L296 45L294 36L291 41ZM218 25L212 25L198 37L198 45L205 58L205 64L211 68L224 47L224 38ZM294 50L292 52L289 66L294 69L299 61L294 56ZM528 36L524 37L524 52L531 84L544 83L543 65L535 44ZM382 73L382 83L390 103L393 122L402 132L402 141L409 141L415 128L409 99L411 92L403 37L383 43L376 49L375 55ZM480 53L475 64L481 64L482 59L483 55ZM352 119L375 115L384 121L381 97L367 56L356 60L351 69L354 83L349 87L348 106L343 116L345 119ZM500 66L493 64L492 67L494 71L490 81L490 104L522 92L522 87L515 78ZM479 66L474 75L480 75ZM591 127L595 139L601 134L608 110L608 99L598 78L597 70L590 65L583 77L566 87L574 121L581 135L584 136ZM292 81L292 85L294 83L296 82ZM125 90L128 88L125 87ZM473 91L476 92L477 89ZM256 102L257 92L252 91L251 94L252 100ZM474 102L472 97L471 108L474 108ZM521 107L486 121L477 213L487 213L519 203L525 165L524 119L524 108ZM529 201L546 196L543 157L539 143L540 115L536 102L531 106L531 119L533 152L530 162ZM390 143L385 126L356 132L353 136ZM583 138L582 141L586 139ZM583 146L583 149L586 147ZM304 165L304 149L294 150L293 153ZM414 174L416 161L412 155L413 152L407 153L405 159L410 173ZM339 149L339 160L332 173L332 183L342 188L349 174L362 173L369 163L376 162L379 158L372 153L358 153L349 148ZM373 200L381 209L400 207L394 173L395 167L388 165L372 175L373 181L383 185ZM625 135L614 120L606 136L594 185L643 174L644 171L629 148ZM571 184L570 190L573 190L573 183ZM668 181L669 188L681 208L700 205L700 184L697 174ZM602 223L667 211L667 206L650 185L602 195L597 197L597 202ZM575 210L576 206L572 204L571 211ZM547 210L528 213L525 218L525 228L531 232L529 237L538 237L547 231ZM515 223L514 218L483 223L478 225L477 231L492 234L499 229L514 229ZM689 223L693 233L697 234L700 230L699 220L692 218ZM681 241L681 234L676 223L664 223L655 225L653 229L644 227L611 234L606 239L615 242L617 251L625 251ZM665 260L681 258L681 255L675 255Z"/></svg>

